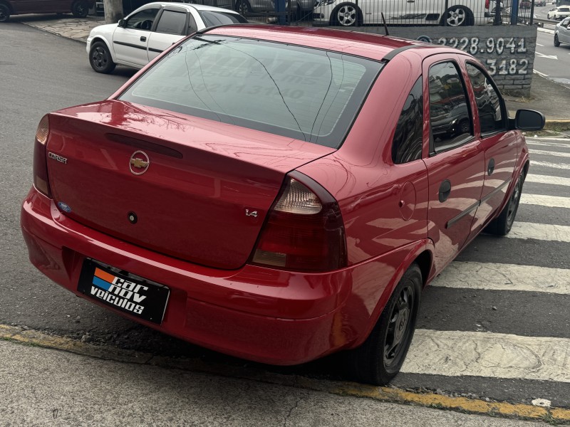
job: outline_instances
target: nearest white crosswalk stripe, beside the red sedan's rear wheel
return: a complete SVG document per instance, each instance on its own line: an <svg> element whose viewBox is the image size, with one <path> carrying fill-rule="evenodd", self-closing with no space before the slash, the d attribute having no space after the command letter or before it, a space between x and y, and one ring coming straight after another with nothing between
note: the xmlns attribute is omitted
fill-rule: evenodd
<svg viewBox="0 0 570 427"><path fill-rule="evenodd" d="M416 330L402 372L570 383L570 339Z"/></svg>

